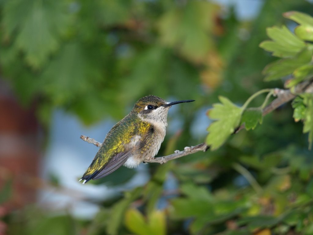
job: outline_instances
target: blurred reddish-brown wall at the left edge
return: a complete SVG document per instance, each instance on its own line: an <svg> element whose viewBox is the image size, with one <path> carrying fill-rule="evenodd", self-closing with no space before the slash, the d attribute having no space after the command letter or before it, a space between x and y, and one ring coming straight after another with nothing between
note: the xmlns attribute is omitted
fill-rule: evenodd
<svg viewBox="0 0 313 235"><path fill-rule="evenodd" d="M2 205L7 211L36 199L40 133L34 106L22 107L8 84L0 80L0 193L12 181L10 198Z"/></svg>

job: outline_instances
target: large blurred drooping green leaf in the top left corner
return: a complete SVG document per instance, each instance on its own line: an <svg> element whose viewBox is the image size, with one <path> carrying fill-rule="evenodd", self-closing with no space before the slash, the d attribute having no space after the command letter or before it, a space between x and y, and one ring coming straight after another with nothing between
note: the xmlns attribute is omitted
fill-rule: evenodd
<svg viewBox="0 0 313 235"><path fill-rule="evenodd" d="M14 37L15 46L25 53L25 60L40 68L49 55L59 49L59 38L68 29L69 14L64 1L7 1L3 25L6 34Z"/></svg>

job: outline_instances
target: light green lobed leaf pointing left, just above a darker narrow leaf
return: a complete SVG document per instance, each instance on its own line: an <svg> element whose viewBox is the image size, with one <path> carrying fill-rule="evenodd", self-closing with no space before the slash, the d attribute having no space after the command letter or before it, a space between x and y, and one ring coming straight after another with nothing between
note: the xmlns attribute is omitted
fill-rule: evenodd
<svg viewBox="0 0 313 235"><path fill-rule="evenodd" d="M286 58L295 56L304 47L305 43L295 34L291 33L286 26L267 28L267 35L272 41L264 41L260 47L273 52L274 56Z"/></svg>

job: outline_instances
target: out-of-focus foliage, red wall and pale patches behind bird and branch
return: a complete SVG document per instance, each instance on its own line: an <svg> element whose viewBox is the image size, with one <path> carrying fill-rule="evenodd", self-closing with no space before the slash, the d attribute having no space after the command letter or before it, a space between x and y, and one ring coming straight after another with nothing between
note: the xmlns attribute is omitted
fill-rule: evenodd
<svg viewBox="0 0 313 235"><path fill-rule="evenodd" d="M217 151L78 182L97 152L80 135L102 142L140 97L196 100L170 109L164 156L204 142L218 95L281 88L259 43L295 27L291 10L312 1L0 0L0 235L313 234L312 151L289 104Z"/></svg>

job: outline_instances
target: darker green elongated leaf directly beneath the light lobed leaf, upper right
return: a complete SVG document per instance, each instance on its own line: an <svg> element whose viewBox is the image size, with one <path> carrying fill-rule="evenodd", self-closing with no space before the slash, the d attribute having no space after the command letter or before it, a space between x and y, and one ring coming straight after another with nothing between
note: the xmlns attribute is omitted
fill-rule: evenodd
<svg viewBox="0 0 313 235"><path fill-rule="evenodd" d="M277 60L267 65L263 74L265 81L281 79L284 76L292 74L297 68L308 64L312 59L313 48L307 47L293 58Z"/></svg>

